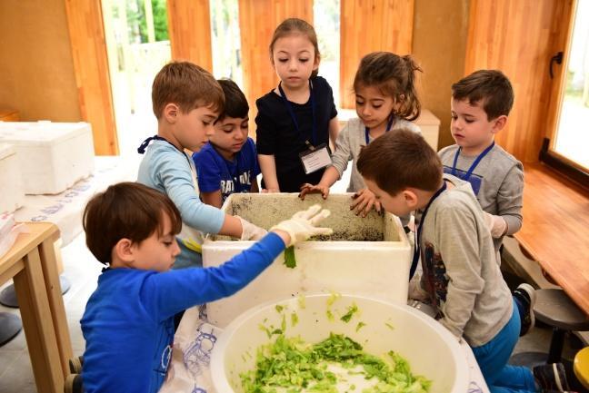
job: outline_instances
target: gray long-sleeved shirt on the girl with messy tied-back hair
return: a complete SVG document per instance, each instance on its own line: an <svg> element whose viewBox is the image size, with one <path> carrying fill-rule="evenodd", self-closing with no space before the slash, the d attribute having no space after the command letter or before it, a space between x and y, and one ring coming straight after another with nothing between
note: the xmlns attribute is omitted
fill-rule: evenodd
<svg viewBox="0 0 589 393"><path fill-rule="evenodd" d="M365 137L365 126L362 120L358 118L350 119L345 124L342 131L340 131L337 141L335 142L335 152L332 154L332 165L339 172L340 177L347 168L349 161L352 161L354 165L352 173L350 174L350 184L348 185L347 192L358 192L366 188L362 175L356 168L356 162L360 155L360 149L366 145ZM401 128L407 128L415 133L421 133L421 130L414 123L408 122L404 119L395 119L391 130L398 130ZM369 142L372 142L374 138L369 137Z"/></svg>

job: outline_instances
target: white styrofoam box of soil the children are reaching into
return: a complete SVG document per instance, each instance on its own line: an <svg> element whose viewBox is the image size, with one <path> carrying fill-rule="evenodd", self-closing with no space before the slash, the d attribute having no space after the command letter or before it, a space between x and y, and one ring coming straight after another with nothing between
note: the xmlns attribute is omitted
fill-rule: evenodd
<svg viewBox="0 0 589 393"><path fill-rule="evenodd" d="M371 212L365 218L350 211L351 193L307 195L296 193L235 193L223 205L257 226L271 228L314 203L331 211L321 226L334 234L295 246L295 269L284 264L284 253L260 276L235 295L207 304L208 319L224 328L243 310L268 300L301 293L338 291L387 301L407 301L411 246L401 222L392 214ZM218 266L249 248L253 241L231 241L209 236L203 244L203 264Z"/></svg>

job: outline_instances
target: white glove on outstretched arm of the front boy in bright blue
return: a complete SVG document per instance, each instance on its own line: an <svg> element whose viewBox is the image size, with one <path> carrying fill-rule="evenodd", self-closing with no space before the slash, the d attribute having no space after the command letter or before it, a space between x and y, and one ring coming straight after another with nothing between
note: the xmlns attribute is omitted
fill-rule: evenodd
<svg viewBox="0 0 589 393"><path fill-rule="evenodd" d="M297 211L290 220L277 223L270 231L285 231L290 235L291 241L286 247L295 245L299 241L306 241L314 235L331 235L331 228L318 228L316 225L328 217L331 211L321 209L319 205L313 205L305 211Z"/></svg>

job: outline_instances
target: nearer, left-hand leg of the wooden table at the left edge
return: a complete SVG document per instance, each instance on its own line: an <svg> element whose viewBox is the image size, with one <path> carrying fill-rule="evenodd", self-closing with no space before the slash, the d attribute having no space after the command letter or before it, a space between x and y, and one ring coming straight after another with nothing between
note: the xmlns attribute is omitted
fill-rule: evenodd
<svg viewBox="0 0 589 393"><path fill-rule="evenodd" d="M37 248L23 258L25 269L15 275L15 290L25 329L35 383L39 393L61 393L64 373L41 258Z"/></svg>

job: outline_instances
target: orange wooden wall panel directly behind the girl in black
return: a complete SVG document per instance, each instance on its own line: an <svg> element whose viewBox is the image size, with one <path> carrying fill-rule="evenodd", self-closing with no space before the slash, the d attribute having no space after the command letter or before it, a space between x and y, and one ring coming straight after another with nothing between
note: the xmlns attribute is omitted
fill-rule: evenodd
<svg viewBox="0 0 589 393"><path fill-rule="evenodd" d="M269 45L276 26L289 17L313 25L313 0L239 0L244 91L250 104L250 130L254 136L255 100L278 84L270 62Z"/></svg>

